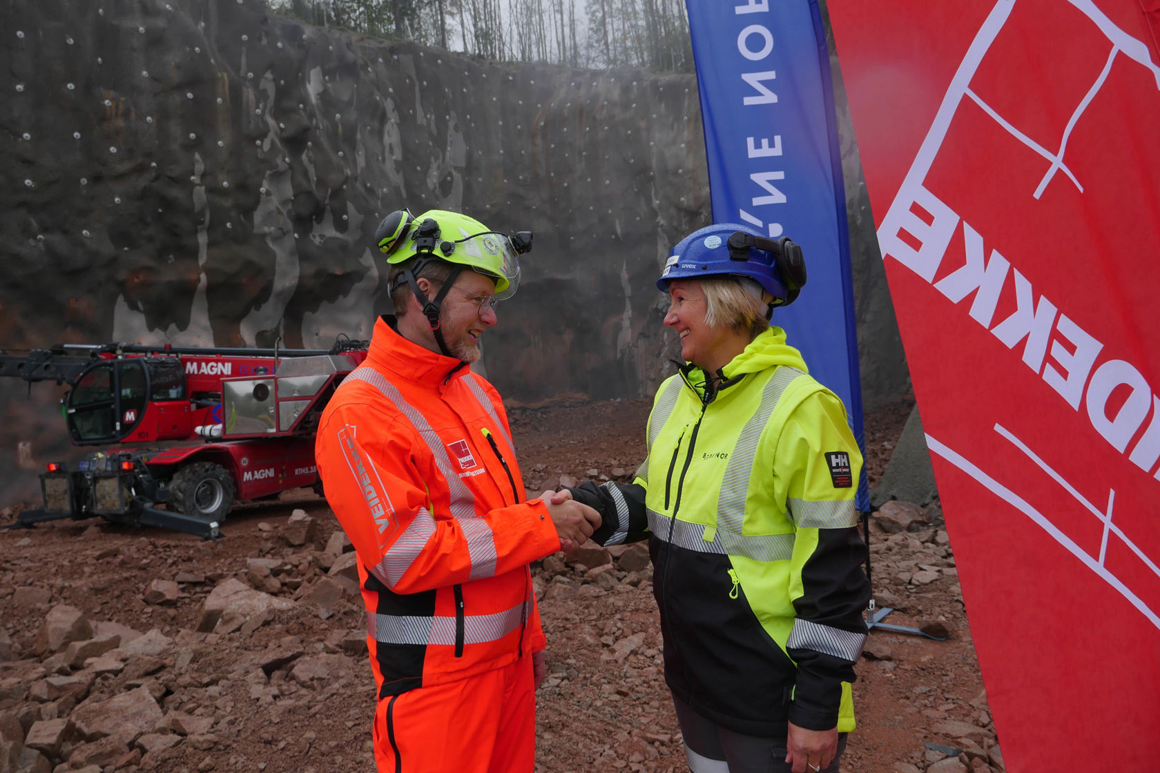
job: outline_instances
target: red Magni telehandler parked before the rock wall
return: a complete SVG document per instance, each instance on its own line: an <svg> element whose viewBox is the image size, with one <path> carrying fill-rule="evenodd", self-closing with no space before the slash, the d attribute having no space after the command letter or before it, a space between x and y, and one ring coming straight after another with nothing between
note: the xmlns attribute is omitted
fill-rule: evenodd
<svg viewBox="0 0 1160 773"><path fill-rule="evenodd" d="M73 445L103 446L41 474L44 506L16 526L101 517L206 539L235 501L313 487L314 430L367 342L327 350L58 344L0 351L0 375L67 384ZM157 505L164 505L159 509Z"/></svg>

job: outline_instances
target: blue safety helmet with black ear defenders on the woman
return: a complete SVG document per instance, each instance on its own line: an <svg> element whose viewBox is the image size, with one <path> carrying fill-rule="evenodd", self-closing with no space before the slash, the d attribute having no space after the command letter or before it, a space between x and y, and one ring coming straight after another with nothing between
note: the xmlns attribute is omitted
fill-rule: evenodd
<svg viewBox="0 0 1160 773"><path fill-rule="evenodd" d="M802 248L788 236L774 240L748 226L718 223L676 243L657 287L667 292L673 279L711 276L753 279L774 297L771 306L786 306L805 285L805 260Z"/></svg>

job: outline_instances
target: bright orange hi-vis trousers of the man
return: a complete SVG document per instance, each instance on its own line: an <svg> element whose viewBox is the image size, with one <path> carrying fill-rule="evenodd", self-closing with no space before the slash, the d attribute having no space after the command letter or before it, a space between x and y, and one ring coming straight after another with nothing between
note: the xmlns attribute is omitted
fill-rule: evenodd
<svg viewBox="0 0 1160 773"><path fill-rule="evenodd" d="M531 656L484 673L389 695L375 710L378 773L531 773Z"/></svg>

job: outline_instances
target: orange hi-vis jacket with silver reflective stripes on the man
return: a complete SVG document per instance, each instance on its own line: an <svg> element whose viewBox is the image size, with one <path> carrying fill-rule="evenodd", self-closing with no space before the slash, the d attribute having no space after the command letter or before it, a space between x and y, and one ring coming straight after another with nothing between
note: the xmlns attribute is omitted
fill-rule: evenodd
<svg viewBox="0 0 1160 773"><path fill-rule="evenodd" d="M379 319L316 455L358 555L380 700L544 649L528 563L560 539L544 503L524 502L491 384Z"/></svg>

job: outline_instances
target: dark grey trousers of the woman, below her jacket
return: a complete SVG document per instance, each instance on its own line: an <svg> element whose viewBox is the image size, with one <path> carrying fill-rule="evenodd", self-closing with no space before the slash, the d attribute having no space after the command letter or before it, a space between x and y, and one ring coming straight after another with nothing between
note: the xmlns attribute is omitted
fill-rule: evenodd
<svg viewBox="0 0 1160 773"><path fill-rule="evenodd" d="M734 732L701 716L676 695L673 695L673 706L684 736L684 756L691 773L790 773L793 770L785 763L784 736L762 738ZM838 734L838 753L821 773L841 770L847 735Z"/></svg>

